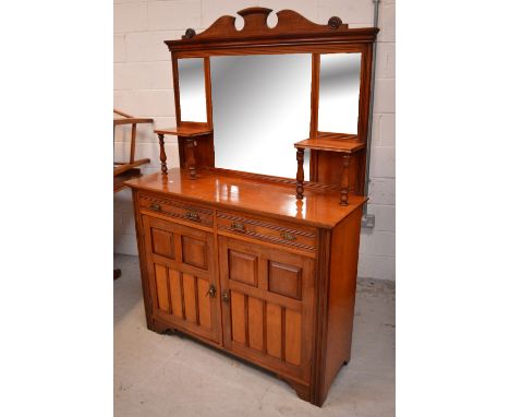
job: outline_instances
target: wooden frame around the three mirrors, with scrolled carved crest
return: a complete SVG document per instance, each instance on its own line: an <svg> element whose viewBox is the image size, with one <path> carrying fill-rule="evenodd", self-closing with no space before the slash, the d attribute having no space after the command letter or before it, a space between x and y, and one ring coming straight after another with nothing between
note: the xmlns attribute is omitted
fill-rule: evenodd
<svg viewBox="0 0 510 417"><path fill-rule="evenodd" d="M327 25L309 22L300 14L283 10L277 13L278 23L270 28L267 17L272 10L250 8L238 12L244 19L241 31L235 28L234 16L218 19L208 29L196 35L187 29L181 40L167 40L171 51L173 70L173 86L175 100L175 118L179 128L196 131L195 139L179 135L179 156L181 167L189 167L189 148L193 143L193 162L197 169L212 169L221 172L232 172L245 177L256 177L267 181L295 183L292 178L278 178L253 172L226 170L215 167L214 126L210 79L210 57L246 56L246 55L312 55L312 88L311 88L311 122L309 140L320 139L318 131L318 102L320 55L323 53L361 53L361 82L359 100L357 135L351 141L359 143L357 151L350 155L349 191L363 194L366 163L366 140L368 130L369 96L372 81L373 43L378 28L349 28L339 17L331 17ZM190 122L181 120L179 93L179 59L203 58L206 86L207 122ZM299 142L302 138L295 138ZM311 151L309 181L306 187L332 188L340 190L345 176L342 170L342 153L323 150Z"/></svg>

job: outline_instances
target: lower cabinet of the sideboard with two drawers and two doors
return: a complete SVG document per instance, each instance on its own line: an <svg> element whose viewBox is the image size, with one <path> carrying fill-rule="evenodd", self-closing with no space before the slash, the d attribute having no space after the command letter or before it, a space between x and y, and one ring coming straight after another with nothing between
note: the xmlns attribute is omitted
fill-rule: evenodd
<svg viewBox="0 0 510 417"><path fill-rule="evenodd" d="M133 189L147 325L266 368L316 405L349 361L362 205L170 169Z"/></svg>

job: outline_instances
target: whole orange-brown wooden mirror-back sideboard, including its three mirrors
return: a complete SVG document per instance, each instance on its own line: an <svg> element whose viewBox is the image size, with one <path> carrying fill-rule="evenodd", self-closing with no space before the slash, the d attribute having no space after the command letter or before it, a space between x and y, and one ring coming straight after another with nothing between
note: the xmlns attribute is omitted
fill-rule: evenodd
<svg viewBox="0 0 510 417"><path fill-rule="evenodd" d="M155 130L161 172L126 186L147 326L272 371L320 406L351 357L378 28L290 10L269 27L270 12L166 41L177 126ZM166 135L180 168L167 166Z"/></svg>

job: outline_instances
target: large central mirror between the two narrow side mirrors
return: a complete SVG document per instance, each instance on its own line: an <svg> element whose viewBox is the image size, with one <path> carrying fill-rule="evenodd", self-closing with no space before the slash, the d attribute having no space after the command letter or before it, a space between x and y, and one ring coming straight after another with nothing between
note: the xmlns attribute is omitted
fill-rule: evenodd
<svg viewBox="0 0 510 417"><path fill-rule="evenodd" d="M215 166L295 178L294 143L309 135L311 55L211 57L210 71Z"/></svg>

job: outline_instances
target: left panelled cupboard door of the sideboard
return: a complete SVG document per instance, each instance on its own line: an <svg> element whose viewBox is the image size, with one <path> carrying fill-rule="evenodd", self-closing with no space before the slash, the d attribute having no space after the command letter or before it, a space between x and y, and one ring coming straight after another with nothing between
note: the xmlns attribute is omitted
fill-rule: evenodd
<svg viewBox="0 0 510 417"><path fill-rule="evenodd" d="M220 343L212 234L143 216L153 317Z"/></svg>

